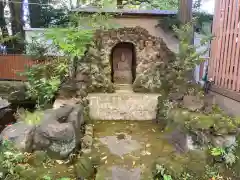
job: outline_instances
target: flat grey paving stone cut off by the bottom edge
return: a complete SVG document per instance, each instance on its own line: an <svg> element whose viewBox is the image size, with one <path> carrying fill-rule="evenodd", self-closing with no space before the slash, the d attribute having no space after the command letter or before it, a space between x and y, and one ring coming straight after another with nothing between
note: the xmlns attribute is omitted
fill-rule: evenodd
<svg viewBox="0 0 240 180"><path fill-rule="evenodd" d="M112 167L112 180L140 180L141 169L135 168L131 171L117 166Z"/></svg>

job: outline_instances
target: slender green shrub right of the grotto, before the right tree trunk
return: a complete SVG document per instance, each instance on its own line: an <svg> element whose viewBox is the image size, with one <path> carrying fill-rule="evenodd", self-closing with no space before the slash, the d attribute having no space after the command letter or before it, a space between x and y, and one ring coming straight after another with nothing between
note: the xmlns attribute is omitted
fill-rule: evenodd
<svg viewBox="0 0 240 180"><path fill-rule="evenodd" d="M176 54L176 60L172 64L172 78L174 79L175 87L178 89L186 88L188 82L193 79L193 69L205 60L202 56L208 51L207 47L203 47L212 38L212 36L206 36L206 38L201 40L200 45L193 45L191 42L193 40L192 26L194 23L195 21L193 20L180 28L173 27L180 40L179 52Z"/></svg>

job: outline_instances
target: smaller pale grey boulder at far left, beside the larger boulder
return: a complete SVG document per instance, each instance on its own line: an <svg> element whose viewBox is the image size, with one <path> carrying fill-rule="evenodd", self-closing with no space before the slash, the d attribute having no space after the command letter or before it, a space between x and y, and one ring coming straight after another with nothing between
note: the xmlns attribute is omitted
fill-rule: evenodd
<svg viewBox="0 0 240 180"><path fill-rule="evenodd" d="M7 126L2 131L1 136L12 141L21 151L31 152L34 132L34 126L18 122Z"/></svg>

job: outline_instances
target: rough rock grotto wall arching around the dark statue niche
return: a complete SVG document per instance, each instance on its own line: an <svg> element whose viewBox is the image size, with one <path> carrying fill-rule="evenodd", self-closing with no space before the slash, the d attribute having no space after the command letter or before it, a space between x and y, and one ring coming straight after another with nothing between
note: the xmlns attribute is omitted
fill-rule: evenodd
<svg viewBox="0 0 240 180"><path fill-rule="evenodd" d="M121 42L132 43L135 47L136 79L133 89L138 92L156 92L160 89L160 76L166 73L165 67L175 59L175 54L161 38L150 35L141 27L96 32L93 44L78 65L78 89L84 86L88 92L114 92L111 53Z"/></svg>

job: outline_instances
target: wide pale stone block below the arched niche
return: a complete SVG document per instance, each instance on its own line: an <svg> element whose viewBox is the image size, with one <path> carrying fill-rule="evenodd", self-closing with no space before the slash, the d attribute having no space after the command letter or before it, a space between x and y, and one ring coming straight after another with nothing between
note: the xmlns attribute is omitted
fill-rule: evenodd
<svg viewBox="0 0 240 180"><path fill-rule="evenodd" d="M90 93L90 117L95 120L153 120L159 94Z"/></svg>

